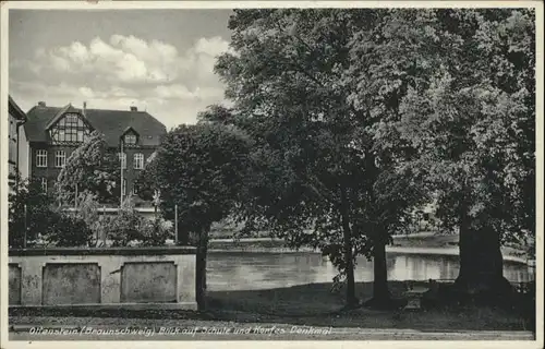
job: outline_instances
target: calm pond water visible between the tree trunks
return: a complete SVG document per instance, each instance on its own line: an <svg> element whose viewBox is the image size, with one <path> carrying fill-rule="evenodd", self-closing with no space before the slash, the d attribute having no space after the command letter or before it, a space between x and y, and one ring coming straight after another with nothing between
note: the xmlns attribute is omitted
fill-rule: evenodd
<svg viewBox="0 0 545 349"><path fill-rule="evenodd" d="M456 255L388 253L389 280L455 279L460 268ZM210 252L207 287L211 291L290 287L329 282L336 267L318 253ZM525 264L504 262L504 276L512 282L533 279ZM356 281L373 281L373 262L358 258Z"/></svg>

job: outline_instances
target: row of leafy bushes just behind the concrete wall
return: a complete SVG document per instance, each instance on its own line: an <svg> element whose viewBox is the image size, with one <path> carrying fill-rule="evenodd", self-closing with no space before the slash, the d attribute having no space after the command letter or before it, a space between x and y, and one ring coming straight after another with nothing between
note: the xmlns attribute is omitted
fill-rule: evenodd
<svg viewBox="0 0 545 349"><path fill-rule="evenodd" d="M144 219L126 200L118 215L100 214L97 195L84 191L78 195L77 212L66 214L55 209L52 197L41 191L36 181L23 182L10 193L9 245L23 248L25 238L25 205L27 208L27 246L44 238L46 244L58 246L89 246L105 237L113 246L128 246L137 241L142 245L165 245L173 238L167 220Z"/></svg>

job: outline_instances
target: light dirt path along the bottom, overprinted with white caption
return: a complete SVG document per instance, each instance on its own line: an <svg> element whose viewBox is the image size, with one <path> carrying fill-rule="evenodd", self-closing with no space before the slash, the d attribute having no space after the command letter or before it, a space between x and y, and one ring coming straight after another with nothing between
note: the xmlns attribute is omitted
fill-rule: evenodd
<svg viewBox="0 0 545 349"><path fill-rule="evenodd" d="M55 318L49 322L56 321ZM415 330L267 323L64 317L66 325L14 325L10 340L534 340L522 330ZM68 325L72 324L72 325ZM77 324L77 325L76 325ZM78 327L76 327L78 326Z"/></svg>

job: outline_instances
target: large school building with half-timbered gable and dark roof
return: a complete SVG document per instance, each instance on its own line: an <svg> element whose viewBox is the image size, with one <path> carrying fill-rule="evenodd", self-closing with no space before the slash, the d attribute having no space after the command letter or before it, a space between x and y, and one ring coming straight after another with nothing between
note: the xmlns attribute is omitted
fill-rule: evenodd
<svg viewBox="0 0 545 349"><path fill-rule="evenodd" d="M28 142L29 176L51 190L61 168L72 152L93 131L105 135L109 147L118 149L123 168L122 195L133 193L134 181L144 169L146 159L159 146L167 130L146 111L136 107L128 110L106 110L49 107L38 103L28 112L24 129Z"/></svg>

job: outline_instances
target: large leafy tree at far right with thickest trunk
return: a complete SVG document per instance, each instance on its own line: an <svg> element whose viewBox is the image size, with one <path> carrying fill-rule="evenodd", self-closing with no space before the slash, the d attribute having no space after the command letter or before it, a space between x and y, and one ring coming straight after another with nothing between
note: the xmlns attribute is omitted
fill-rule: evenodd
<svg viewBox="0 0 545 349"><path fill-rule="evenodd" d="M417 149L412 166L437 191L441 221L459 230L457 286L502 293L509 285L501 244L535 236L535 14L436 10L427 16L424 36L414 35L410 17L392 31L415 45L391 56L424 70L392 67L405 74L398 130Z"/></svg>

